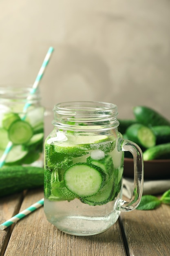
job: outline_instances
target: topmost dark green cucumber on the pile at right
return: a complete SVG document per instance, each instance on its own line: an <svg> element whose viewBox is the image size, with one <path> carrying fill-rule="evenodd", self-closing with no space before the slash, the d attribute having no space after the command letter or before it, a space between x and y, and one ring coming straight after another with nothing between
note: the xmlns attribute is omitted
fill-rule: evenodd
<svg viewBox="0 0 170 256"><path fill-rule="evenodd" d="M133 113L136 120L146 126L170 126L170 120L166 119L163 117L163 115L153 110L152 108L146 106L136 106L133 108Z"/></svg>

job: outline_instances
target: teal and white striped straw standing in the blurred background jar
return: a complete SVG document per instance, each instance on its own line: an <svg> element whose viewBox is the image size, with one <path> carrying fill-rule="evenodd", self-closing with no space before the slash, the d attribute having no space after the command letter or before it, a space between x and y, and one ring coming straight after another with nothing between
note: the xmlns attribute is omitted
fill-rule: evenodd
<svg viewBox="0 0 170 256"><path fill-rule="evenodd" d="M38 72L38 75L35 79L35 82L33 83L33 87L31 89L30 95L27 97L26 104L23 108L23 113L25 113L27 108L31 105L31 103L29 102L29 99L31 99L32 95L36 92L36 90L38 88L38 85L39 85L39 83L42 79L42 76L44 75L45 68L49 63L49 60L50 60L50 57L51 57L51 54L52 54L53 50L54 50L53 47L49 47L49 50L48 50L48 52L47 52L47 54L44 58L44 61L43 61L42 66L40 68L40 71ZM22 117L22 120L24 120L25 117L26 117L26 115L24 115ZM7 147L4 150L4 153L3 153L2 157L0 158L0 168L5 164L5 160L8 156L8 154L9 154L9 152L11 151L12 146L13 146L12 142L9 141L9 143L7 144Z"/></svg>

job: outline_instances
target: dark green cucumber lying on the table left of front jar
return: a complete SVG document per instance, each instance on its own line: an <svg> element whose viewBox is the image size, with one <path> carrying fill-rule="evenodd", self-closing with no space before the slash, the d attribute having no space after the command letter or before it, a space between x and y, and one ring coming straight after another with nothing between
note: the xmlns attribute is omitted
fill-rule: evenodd
<svg viewBox="0 0 170 256"><path fill-rule="evenodd" d="M44 185L44 168L9 166L0 169L0 198Z"/></svg>

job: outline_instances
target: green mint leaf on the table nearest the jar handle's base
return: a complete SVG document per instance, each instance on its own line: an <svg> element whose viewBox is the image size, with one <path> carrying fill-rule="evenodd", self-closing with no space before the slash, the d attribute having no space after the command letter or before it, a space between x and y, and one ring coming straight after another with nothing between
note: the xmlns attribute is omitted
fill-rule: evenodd
<svg viewBox="0 0 170 256"><path fill-rule="evenodd" d="M143 195L141 197L141 202L139 206L136 208L137 210L152 210L161 204L161 200L159 200L154 195Z"/></svg>

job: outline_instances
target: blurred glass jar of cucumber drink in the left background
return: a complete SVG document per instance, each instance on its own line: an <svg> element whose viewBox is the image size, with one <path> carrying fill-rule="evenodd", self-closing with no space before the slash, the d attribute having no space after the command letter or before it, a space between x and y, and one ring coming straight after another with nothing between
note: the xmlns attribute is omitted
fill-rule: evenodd
<svg viewBox="0 0 170 256"><path fill-rule="evenodd" d="M44 108L32 87L0 87L0 167L43 166Z"/></svg>

